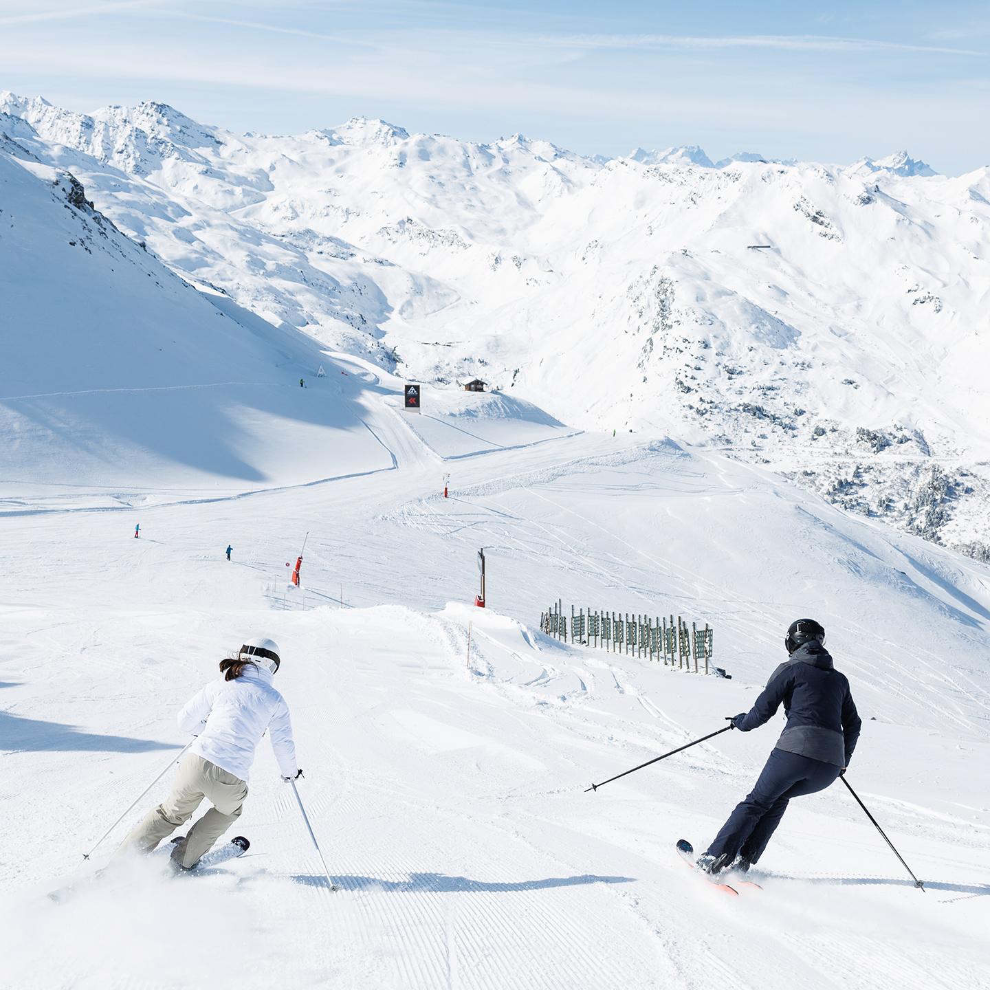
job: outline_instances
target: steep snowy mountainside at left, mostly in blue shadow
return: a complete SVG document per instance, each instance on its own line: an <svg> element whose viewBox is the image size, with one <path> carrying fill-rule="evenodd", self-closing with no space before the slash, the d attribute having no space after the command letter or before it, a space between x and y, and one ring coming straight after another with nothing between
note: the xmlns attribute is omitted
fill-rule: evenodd
<svg viewBox="0 0 990 990"><path fill-rule="evenodd" d="M345 451L389 465L357 397L298 387L313 342L197 291L3 137L0 273L4 494L270 487L332 475Z"/></svg>

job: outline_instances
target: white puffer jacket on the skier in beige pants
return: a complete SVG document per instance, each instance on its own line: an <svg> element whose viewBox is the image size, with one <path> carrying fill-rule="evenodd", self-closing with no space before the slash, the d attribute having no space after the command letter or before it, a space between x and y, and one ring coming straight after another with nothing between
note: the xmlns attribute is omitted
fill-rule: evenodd
<svg viewBox="0 0 990 990"><path fill-rule="evenodd" d="M207 684L186 703L177 721L182 732L198 737L190 752L241 780L247 780L254 749L268 730L282 776L296 775L289 707L272 686L271 674L253 663L235 680L221 677Z"/></svg>

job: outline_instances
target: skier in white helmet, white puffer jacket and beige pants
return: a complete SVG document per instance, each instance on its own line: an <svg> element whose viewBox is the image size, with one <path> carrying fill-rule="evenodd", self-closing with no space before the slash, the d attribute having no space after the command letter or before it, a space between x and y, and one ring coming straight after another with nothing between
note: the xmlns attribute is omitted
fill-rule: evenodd
<svg viewBox="0 0 990 990"><path fill-rule="evenodd" d="M240 817L254 749L265 731L282 779L302 775L289 708L272 685L279 663L278 645L267 638L251 640L236 656L221 660L224 677L207 684L178 714L179 729L196 741L179 763L171 794L148 812L119 851L137 847L150 852L207 798L213 807L172 849L172 861L192 869Z"/></svg>

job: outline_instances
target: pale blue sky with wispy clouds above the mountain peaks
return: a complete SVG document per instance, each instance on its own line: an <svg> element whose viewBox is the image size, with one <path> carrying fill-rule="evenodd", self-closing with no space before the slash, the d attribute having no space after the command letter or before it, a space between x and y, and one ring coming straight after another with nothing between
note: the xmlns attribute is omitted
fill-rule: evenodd
<svg viewBox="0 0 990 990"><path fill-rule="evenodd" d="M0 89L234 131L351 116L604 154L990 163L990 5L0 0Z"/></svg>

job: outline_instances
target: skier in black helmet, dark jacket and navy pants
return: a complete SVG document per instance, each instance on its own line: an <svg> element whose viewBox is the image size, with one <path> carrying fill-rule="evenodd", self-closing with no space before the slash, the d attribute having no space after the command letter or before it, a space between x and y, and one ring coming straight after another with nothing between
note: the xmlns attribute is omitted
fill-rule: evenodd
<svg viewBox="0 0 990 990"><path fill-rule="evenodd" d="M768 722L783 703L787 726L751 793L699 857L698 866L709 873L745 872L762 855L787 802L834 783L859 738L849 682L832 664L825 630L814 619L799 619L784 644L790 658L773 671L752 708L732 723L747 733Z"/></svg>

